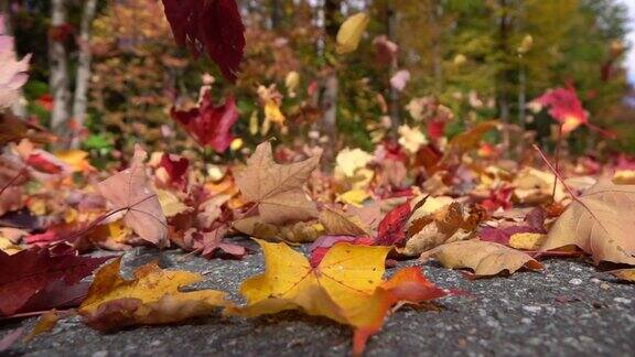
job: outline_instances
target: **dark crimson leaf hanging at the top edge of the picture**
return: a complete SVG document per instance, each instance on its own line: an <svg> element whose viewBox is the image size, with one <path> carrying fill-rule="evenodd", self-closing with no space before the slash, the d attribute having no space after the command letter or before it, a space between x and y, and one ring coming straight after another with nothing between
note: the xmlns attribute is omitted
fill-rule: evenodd
<svg viewBox="0 0 635 357"><path fill-rule="evenodd" d="M206 51L225 78L236 80L245 25L236 0L162 0L174 40L198 57Z"/></svg>

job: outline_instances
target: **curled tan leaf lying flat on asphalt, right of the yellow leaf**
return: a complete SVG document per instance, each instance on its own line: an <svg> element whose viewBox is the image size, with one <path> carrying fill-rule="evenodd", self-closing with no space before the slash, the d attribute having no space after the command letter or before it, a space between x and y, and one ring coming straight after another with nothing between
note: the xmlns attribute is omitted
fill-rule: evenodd
<svg viewBox="0 0 635 357"><path fill-rule="evenodd" d="M463 240L437 247L421 256L434 258L445 268L469 268L473 278L486 278L502 272L514 273L525 267L540 270L542 264L527 253L492 241Z"/></svg>

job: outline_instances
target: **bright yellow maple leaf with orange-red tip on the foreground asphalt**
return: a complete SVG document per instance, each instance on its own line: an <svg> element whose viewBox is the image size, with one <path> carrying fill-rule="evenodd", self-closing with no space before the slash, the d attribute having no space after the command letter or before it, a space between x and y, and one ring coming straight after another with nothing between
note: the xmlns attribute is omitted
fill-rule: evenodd
<svg viewBox="0 0 635 357"><path fill-rule="evenodd" d="M247 306L228 312L254 317L299 309L352 325L354 355L363 353L367 338L381 328L394 304L445 295L418 268L406 268L383 281L388 247L337 244L312 268L304 256L287 245L258 244L267 269L240 285Z"/></svg>

